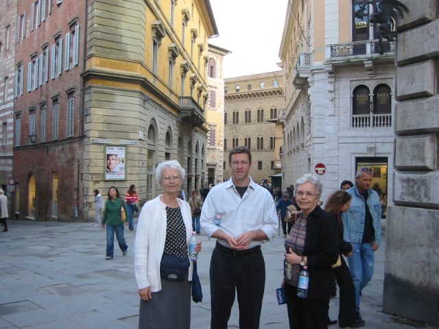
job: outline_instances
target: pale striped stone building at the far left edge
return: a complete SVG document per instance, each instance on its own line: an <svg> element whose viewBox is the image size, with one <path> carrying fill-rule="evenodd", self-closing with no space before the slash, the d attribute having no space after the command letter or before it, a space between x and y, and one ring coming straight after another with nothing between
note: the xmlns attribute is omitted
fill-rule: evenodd
<svg viewBox="0 0 439 329"><path fill-rule="evenodd" d="M14 84L19 74L15 62L15 44L25 38L23 29L16 29L23 24L22 17L16 16L18 0L1 1L0 27L0 186L9 199L10 212L12 210L13 185L12 159L14 155ZM21 86L20 86L21 87ZM19 91L23 93L21 88Z"/></svg>

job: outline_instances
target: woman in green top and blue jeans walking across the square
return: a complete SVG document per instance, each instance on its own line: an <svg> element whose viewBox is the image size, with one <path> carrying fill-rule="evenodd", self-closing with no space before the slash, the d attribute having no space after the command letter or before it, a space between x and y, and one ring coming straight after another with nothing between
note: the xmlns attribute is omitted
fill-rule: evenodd
<svg viewBox="0 0 439 329"><path fill-rule="evenodd" d="M102 228L107 228L106 260L112 259L115 252L115 233L122 255L126 256L128 245L125 238L123 238L123 223L128 225L128 221L122 219L121 208L128 214L128 208L126 203L119 197L119 191L115 186L111 186L108 190L108 201L105 204L104 218L102 219Z"/></svg>

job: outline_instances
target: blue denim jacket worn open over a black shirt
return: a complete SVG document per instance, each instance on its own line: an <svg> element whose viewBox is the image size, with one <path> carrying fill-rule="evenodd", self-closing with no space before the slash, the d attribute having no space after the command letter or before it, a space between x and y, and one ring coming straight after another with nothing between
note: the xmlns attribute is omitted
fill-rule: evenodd
<svg viewBox="0 0 439 329"><path fill-rule="evenodd" d="M366 218L364 198L359 194L357 184L349 188L348 193L351 193L352 201L351 209L342 214L344 240L351 243L361 243L363 240L364 219ZM368 193L368 206L370 215L372 215L373 227L375 228L375 243L379 245L381 242L381 202L377 192L369 188Z"/></svg>

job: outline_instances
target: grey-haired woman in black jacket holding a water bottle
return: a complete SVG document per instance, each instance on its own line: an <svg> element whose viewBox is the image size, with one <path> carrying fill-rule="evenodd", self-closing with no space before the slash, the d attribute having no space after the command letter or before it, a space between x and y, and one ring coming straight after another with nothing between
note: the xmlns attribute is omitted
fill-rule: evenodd
<svg viewBox="0 0 439 329"><path fill-rule="evenodd" d="M296 181L296 202L301 211L285 240L285 271L282 287L287 297L289 328L323 329L328 327L329 299L333 272L337 263L339 235L333 215L318 206L322 183L307 174ZM300 269L307 266L307 297L297 296ZM288 267L288 266L286 266Z"/></svg>

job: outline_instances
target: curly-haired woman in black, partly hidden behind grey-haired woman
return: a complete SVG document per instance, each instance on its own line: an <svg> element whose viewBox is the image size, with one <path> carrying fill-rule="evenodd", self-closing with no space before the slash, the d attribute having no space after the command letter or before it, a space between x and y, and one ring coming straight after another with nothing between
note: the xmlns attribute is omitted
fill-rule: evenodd
<svg viewBox="0 0 439 329"><path fill-rule="evenodd" d="M334 267L333 272L340 288L340 308L338 310L338 324L340 328L359 328L364 326L364 320L357 317L355 312L355 286L352 280L351 272L349 271L346 262L342 255L351 257L352 245L343 239L343 222L342 212L346 212L351 208L352 195L343 190L334 191L327 199L324 210L331 212L337 219L340 231L340 260L341 265Z"/></svg>

